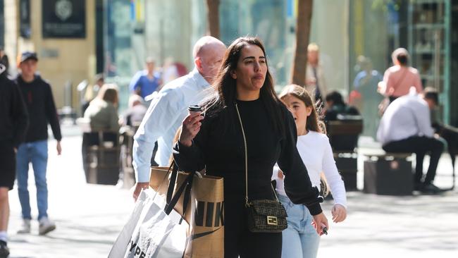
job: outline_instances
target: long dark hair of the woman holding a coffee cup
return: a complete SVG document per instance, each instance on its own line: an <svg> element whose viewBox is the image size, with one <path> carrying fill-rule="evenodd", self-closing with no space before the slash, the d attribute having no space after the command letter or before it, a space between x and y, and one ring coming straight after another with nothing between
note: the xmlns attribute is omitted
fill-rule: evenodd
<svg viewBox="0 0 458 258"><path fill-rule="evenodd" d="M239 37L230 44L228 50L226 50L221 66L218 70L218 75L216 75L216 80L213 82L212 88L216 89L213 96L209 100L204 102L204 110L206 112L205 116L214 116L221 111L228 116L226 121L233 123L233 118L235 116L235 109L231 108L235 106L237 100L237 80L231 76L231 72L237 69L237 63L242 54L242 49L249 46L256 45L258 46L264 56L266 56L266 50L261 40L257 37ZM267 59L267 56L266 56ZM259 98L263 102L268 115L271 117L271 121L274 129L277 133L283 133L282 126L282 113L280 111L280 106L283 106L283 103L278 99L277 94L273 88L273 78L271 73L268 70L266 72L266 80L264 85L262 85Z"/></svg>

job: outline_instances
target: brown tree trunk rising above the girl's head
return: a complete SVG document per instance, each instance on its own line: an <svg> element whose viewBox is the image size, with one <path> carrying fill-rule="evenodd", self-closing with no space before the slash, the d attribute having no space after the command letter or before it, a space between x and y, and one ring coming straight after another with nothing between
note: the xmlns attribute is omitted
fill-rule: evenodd
<svg viewBox="0 0 458 258"><path fill-rule="evenodd" d="M291 82L304 87L307 68L307 46L309 45L313 0L299 0L297 6L296 51L292 63Z"/></svg>

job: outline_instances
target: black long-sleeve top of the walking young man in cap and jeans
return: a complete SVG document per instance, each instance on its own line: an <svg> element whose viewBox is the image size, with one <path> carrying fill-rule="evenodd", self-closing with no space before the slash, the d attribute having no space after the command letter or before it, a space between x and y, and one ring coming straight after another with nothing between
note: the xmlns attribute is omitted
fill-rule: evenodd
<svg viewBox="0 0 458 258"><path fill-rule="evenodd" d="M29 113L29 129L25 135L25 142L35 142L48 139L48 123L54 138L62 139L61 126L59 125L56 104L51 92L51 85L39 75L35 80L25 82L20 75L16 78L20 91L23 94L25 105Z"/></svg>

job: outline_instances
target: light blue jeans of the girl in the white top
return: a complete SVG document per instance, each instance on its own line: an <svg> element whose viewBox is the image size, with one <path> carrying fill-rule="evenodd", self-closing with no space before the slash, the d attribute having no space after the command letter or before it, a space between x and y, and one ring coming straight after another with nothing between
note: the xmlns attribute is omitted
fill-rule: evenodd
<svg viewBox="0 0 458 258"><path fill-rule="evenodd" d="M311 222L314 220L303 204L293 204L288 197L278 195L287 213L288 227L283 231L281 256L285 258L316 258L320 236Z"/></svg>

